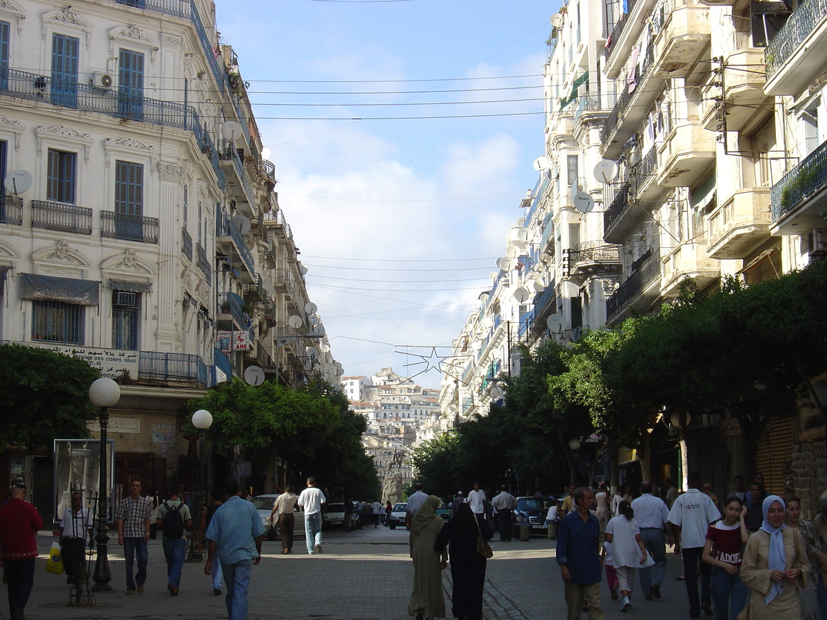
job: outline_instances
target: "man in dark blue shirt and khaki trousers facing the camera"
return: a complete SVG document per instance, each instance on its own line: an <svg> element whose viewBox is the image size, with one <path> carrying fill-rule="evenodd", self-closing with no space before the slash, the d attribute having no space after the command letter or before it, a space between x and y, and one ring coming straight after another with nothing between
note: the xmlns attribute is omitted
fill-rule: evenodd
<svg viewBox="0 0 827 620"><path fill-rule="evenodd" d="M575 510L566 514L557 533L557 564L565 582L568 620L579 620L583 602L589 620L603 620L600 608L600 522L590 513L595 494L587 487L574 492Z"/></svg>

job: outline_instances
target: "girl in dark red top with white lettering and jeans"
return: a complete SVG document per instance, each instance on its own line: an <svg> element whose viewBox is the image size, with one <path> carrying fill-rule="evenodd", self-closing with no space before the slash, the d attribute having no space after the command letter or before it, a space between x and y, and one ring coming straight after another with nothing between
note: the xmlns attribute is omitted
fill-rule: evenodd
<svg viewBox="0 0 827 620"><path fill-rule="evenodd" d="M749 538L744 517L747 508L737 495L726 500L724 518L706 532L703 560L712 565L710 589L715 602L715 620L737 618L747 600L747 585L739 576L741 553ZM727 609L731 612L727 615Z"/></svg>

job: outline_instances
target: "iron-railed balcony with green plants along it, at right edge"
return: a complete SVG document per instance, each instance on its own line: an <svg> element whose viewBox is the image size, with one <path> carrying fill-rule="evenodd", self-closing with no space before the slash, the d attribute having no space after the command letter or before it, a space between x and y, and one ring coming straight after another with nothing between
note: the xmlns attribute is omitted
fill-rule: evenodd
<svg viewBox="0 0 827 620"><path fill-rule="evenodd" d="M770 189L773 235L800 235L824 227L827 208L827 142L786 173Z"/></svg>

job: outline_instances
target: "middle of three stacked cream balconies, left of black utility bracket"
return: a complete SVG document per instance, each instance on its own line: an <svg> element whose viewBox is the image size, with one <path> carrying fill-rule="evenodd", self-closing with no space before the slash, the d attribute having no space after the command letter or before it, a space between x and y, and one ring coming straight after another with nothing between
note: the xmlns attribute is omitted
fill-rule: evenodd
<svg viewBox="0 0 827 620"><path fill-rule="evenodd" d="M657 184L665 188L690 187L705 177L715 163L715 133L700 121L676 126L660 151Z"/></svg>

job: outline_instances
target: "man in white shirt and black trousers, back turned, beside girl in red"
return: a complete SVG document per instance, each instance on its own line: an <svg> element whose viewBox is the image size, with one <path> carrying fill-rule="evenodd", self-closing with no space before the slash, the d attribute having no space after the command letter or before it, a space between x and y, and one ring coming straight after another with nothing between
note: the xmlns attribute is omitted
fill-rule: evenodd
<svg viewBox="0 0 827 620"><path fill-rule="evenodd" d="M712 498L701 493L703 484L697 472L689 475L686 493L678 496L669 511L667 527L672 526L675 537L675 552L681 552L683 559L683 576L685 578L686 596L689 598L689 617L700 618L703 609L707 616L712 616L712 596L710 578L712 566L700 561L704 552L706 532L712 522L717 521L721 513L715 508ZM637 514L635 515L637 517ZM700 562L700 601L698 599L698 570Z"/></svg>

